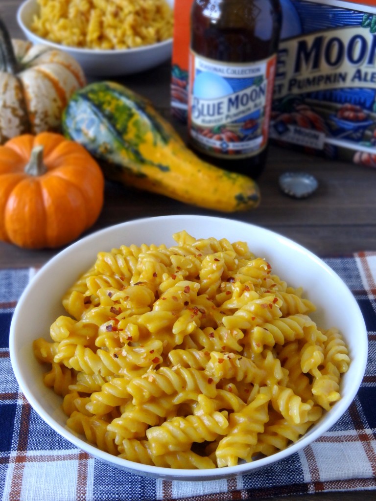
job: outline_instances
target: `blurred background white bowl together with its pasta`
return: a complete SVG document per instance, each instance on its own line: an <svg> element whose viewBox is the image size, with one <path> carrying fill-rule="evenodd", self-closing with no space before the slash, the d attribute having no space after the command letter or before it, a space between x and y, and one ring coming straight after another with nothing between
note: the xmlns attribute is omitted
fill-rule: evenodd
<svg viewBox="0 0 376 501"><path fill-rule="evenodd" d="M138 0L128 1L138 6ZM173 3L157 0L148 4L153 13L140 4L130 14L122 14L111 2L101 7L89 0L80 8L80 2L71 0L42 1L41 5L38 0L26 0L17 21L30 42L67 52L87 76L121 76L149 70L171 57Z"/></svg>

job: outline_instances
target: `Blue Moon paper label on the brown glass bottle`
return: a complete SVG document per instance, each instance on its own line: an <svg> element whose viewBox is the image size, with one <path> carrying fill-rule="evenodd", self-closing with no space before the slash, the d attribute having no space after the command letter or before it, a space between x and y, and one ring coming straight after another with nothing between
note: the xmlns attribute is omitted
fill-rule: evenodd
<svg viewBox="0 0 376 501"><path fill-rule="evenodd" d="M217 157L257 155L268 141L276 56L222 63L190 52L189 133Z"/></svg>

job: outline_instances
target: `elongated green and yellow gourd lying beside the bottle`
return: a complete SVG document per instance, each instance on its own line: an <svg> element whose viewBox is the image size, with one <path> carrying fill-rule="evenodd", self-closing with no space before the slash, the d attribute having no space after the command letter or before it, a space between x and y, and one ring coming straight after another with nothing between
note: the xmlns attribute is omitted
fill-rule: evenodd
<svg viewBox="0 0 376 501"><path fill-rule="evenodd" d="M113 82L76 91L62 119L107 179L224 212L260 202L256 182L199 159L146 99Z"/></svg>

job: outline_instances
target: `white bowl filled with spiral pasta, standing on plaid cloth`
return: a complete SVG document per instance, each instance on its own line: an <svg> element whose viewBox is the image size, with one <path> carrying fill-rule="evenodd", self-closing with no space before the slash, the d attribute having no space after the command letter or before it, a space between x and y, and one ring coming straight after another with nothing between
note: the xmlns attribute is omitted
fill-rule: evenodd
<svg viewBox="0 0 376 501"><path fill-rule="evenodd" d="M78 448L204 480L324 433L356 395L367 338L351 292L305 248L176 215L103 229L48 262L16 307L10 351L26 398Z"/></svg>

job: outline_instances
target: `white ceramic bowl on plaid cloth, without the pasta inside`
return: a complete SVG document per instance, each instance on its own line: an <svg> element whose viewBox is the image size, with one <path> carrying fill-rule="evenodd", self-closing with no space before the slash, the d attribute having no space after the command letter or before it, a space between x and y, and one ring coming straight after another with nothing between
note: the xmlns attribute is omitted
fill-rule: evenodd
<svg viewBox="0 0 376 501"><path fill-rule="evenodd" d="M175 244L172 234L185 229L197 238L226 237L243 240L259 257L265 258L273 273L292 287L302 286L317 305L314 320L325 328L340 329L348 347L351 363L341 382L341 399L297 442L272 456L209 470L170 469L134 463L102 452L77 437L66 426L61 398L42 382L44 369L36 361L32 342L45 334L64 313L61 297L95 261L100 250L122 244ZM25 329L27 326L27 329ZM113 466L139 475L164 479L205 480L231 477L269 465L308 445L330 428L352 402L362 380L367 359L367 333L359 307L342 280L319 258L304 247L270 230L226 218L196 215L161 216L137 219L93 233L64 249L48 262L23 293L14 313L10 332L10 354L21 390L37 413L58 433L89 454Z"/></svg>

